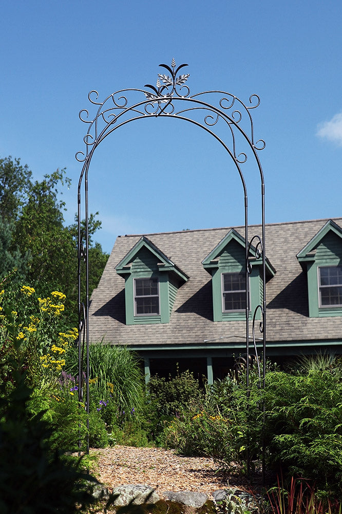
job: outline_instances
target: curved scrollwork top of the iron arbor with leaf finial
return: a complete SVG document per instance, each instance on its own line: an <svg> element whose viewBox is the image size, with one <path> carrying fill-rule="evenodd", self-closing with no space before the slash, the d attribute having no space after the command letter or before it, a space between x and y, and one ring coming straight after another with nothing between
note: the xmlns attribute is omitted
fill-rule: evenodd
<svg viewBox="0 0 342 514"><path fill-rule="evenodd" d="M89 92L88 100L96 107L96 111L93 116L86 108L79 113L80 120L88 125L88 130L83 138L85 151L77 152L75 158L86 164L99 142L115 126L142 118L178 118L195 122L205 130L209 127L210 132L215 133L231 149L236 164L244 163L251 151L263 183L257 153L265 148L265 142L263 139L255 139L251 116L252 109L260 104L259 96L252 94L248 103L244 103L237 96L223 90L207 90L192 95L187 84L190 75L180 73L187 64L176 66L173 59L170 66L159 66L167 73L158 73L156 86L145 84L145 89L119 89L103 101L99 101L98 91Z"/></svg>

